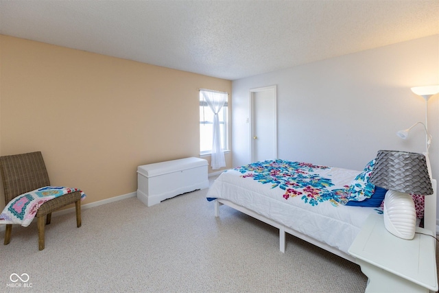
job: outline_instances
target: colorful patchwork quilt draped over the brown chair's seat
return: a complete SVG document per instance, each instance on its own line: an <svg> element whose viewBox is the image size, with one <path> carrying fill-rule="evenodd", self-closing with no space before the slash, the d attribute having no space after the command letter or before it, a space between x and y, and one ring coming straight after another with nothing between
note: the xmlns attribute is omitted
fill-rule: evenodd
<svg viewBox="0 0 439 293"><path fill-rule="evenodd" d="M75 191L80 191L81 200L84 200L86 195L81 190L56 186L42 187L17 196L6 204L5 209L0 214L0 224L21 224L21 226L27 227L34 220L41 204Z"/></svg>

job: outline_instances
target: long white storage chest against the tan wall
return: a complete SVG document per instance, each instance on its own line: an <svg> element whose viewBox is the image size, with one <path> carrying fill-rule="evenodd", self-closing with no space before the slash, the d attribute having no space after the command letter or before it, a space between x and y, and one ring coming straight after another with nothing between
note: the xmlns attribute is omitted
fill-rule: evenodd
<svg viewBox="0 0 439 293"><path fill-rule="evenodd" d="M209 187L207 161L185 158L137 167L137 198L148 207L185 192Z"/></svg>

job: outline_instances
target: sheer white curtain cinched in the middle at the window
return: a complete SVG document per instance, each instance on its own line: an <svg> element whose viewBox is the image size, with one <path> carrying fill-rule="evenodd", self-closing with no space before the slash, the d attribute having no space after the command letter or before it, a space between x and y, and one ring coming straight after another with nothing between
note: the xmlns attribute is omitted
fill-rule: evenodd
<svg viewBox="0 0 439 293"><path fill-rule="evenodd" d="M226 167L226 159L224 159L224 151L221 147L221 132L219 131L219 110L224 106L227 100L227 93L220 93L215 91L204 91L201 93L213 112L213 141L212 141L212 169L219 169Z"/></svg>

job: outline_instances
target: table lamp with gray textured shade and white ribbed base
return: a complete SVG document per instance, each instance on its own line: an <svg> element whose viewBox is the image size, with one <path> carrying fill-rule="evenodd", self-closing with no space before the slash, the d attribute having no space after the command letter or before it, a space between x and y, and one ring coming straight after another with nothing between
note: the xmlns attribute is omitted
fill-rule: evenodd
<svg viewBox="0 0 439 293"><path fill-rule="evenodd" d="M383 209L387 231L402 239L413 239L416 210L410 194L433 194L425 155L379 150L369 182L388 189Z"/></svg>

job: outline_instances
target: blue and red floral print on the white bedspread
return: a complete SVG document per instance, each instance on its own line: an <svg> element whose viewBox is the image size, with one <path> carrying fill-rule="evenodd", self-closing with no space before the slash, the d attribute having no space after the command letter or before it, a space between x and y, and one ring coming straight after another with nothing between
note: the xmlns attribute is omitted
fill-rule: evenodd
<svg viewBox="0 0 439 293"><path fill-rule="evenodd" d="M300 197L313 206L320 202L330 202L333 206L346 201L349 185L335 188L332 179L325 177L322 170L331 167L285 160L261 161L235 168L241 177L252 178L259 183L270 184L271 188L283 189L283 198Z"/></svg>

